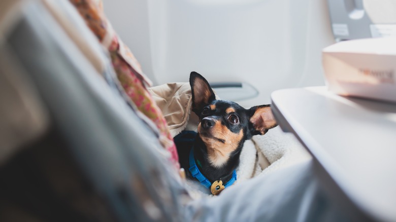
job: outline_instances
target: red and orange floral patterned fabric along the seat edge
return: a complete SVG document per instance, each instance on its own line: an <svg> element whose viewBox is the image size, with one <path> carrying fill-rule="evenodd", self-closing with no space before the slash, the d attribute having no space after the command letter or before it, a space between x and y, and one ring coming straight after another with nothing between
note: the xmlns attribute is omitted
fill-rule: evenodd
<svg viewBox="0 0 396 222"><path fill-rule="evenodd" d="M70 0L70 2L76 7L97 39L109 50L114 70L125 93L139 111L157 126L160 134L159 141L171 153L173 164L180 168L176 146L167 122L145 86L145 84L151 85L151 81L143 74L135 56L115 34L103 13L101 1Z"/></svg>

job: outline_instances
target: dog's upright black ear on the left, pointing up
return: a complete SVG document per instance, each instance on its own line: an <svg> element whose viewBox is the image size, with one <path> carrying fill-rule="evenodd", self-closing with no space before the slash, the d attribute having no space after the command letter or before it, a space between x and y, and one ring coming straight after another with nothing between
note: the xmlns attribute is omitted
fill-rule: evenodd
<svg viewBox="0 0 396 222"><path fill-rule="evenodd" d="M197 72L192 71L190 73L190 86L192 94L192 111L197 116L200 116L202 109L215 100L216 96L208 81Z"/></svg>

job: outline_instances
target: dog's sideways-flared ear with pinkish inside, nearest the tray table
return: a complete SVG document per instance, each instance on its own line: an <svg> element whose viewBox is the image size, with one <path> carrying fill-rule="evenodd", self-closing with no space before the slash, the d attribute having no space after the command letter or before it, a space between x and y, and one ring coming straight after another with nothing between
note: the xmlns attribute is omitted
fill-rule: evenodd
<svg viewBox="0 0 396 222"><path fill-rule="evenodd" d="M272 129L278 124L271 111L271 105L258 105L249 109L250 123L253 125L252 135L264 135L269 129Z"/></svg>

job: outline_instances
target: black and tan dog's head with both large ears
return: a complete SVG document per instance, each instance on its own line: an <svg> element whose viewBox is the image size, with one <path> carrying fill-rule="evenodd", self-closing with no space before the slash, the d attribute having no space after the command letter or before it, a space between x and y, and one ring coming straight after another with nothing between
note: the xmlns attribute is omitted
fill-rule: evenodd
<svg viewBox="0 0 396 222"><path fill-rule="evenodd" d="M222 166L245 140L277 126L270 105L245 109L236 102L216 100L208 81L191 72L192 111L200 118L198 133L212 165Z"/></svg>

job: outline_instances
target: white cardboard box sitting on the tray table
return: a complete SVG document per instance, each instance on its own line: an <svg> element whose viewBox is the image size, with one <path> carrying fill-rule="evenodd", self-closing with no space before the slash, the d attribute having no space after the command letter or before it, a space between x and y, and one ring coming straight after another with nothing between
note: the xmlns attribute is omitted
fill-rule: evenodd
<svg viewBox="0 0 396 222"><path fill-rule="evenodd" d="M323 49L322 62L330 91L396 102L396 38L340 42Z"/></svg>

